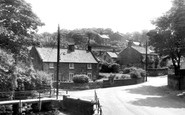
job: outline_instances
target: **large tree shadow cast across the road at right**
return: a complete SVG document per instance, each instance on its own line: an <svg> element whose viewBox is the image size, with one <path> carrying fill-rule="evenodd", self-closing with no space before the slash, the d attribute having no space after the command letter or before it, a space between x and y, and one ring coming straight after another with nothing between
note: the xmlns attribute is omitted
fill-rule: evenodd
<svg viewBox="0 0 185 115"><path fill-rule="evenodd" d="M167 88L167 86L141 86L134 89L125 89L125 91L146 97L129 102L133 105L160 108L185 108L183 99L177 97L176 92Z"/></svg>

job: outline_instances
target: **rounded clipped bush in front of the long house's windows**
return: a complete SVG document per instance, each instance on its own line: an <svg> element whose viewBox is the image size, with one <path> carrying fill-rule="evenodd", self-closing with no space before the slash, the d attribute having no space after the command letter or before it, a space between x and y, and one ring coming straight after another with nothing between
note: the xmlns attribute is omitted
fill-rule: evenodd
<svg viewBox="0 0 185 115"><path fill-rule="evenodd" d="M73 82L74 83L88 83L89 77L85 74L75 75L73 77Z"/></svg>

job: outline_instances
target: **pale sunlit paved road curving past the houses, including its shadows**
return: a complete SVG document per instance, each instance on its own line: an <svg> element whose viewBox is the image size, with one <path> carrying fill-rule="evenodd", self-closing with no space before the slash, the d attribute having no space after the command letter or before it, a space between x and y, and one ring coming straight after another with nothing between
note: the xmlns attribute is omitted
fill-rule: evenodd
<svg viewBox="0 0 185 115"><path fill-rule="evenodd" d="M148 78L148 82L96 89L103 115L185 115L185 100L167 88L167 78ZM70 92L71 97L94 98L94 90Z"/></svg>

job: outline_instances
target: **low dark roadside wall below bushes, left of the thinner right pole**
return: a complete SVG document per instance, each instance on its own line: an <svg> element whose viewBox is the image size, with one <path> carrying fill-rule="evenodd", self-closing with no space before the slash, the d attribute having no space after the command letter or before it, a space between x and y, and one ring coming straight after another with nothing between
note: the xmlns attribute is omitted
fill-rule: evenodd
<svg viewBox="0 0 185 115"><path fill-rule="evenodd" d="M134 85L138 83L143 83L144 78L137 79L122 79L122 80L103 80L103 87L116 87L116 86L126 86L126 85Z"/></svg>

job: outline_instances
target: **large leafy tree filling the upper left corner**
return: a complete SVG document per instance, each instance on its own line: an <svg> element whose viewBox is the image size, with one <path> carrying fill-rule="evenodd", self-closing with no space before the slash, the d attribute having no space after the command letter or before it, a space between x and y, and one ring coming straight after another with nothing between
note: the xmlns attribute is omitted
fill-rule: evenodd
<svg viewBox="0 0 185 115"><path fill-rule="evenodd" d="M33 33L43 23L24 0L0 0L0 47L14 55L24 55L35 40Z"/></svg>

